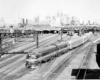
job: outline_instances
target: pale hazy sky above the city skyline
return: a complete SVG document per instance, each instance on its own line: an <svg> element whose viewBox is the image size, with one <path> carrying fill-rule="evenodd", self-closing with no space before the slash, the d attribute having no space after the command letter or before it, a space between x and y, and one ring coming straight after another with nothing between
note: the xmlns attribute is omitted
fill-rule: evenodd
<svg viewBox="0 0 100 80"><path fill-rule="evenodd" d="M100 0L0 0L0 18L9 23L21 17L55 15L57 11L100 23Z"/></svg>

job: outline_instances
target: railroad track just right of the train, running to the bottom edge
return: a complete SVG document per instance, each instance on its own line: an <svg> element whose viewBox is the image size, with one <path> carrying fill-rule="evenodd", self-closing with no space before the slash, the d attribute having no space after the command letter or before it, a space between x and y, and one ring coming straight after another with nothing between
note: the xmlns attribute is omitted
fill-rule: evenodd
<svg viewBox="0 0 100 80"><path fill-rule="evenodd" d="M88 43L89 44L89 43ZM88 47L88 46L87 46ZM57 76L68 66L71 61L83 50L85 50L87 47L84 49L82 46L77 48L74 52L68 55L66 58L64 58L52 71L50 74L48 74L43 80L55 80Z"/></svg>

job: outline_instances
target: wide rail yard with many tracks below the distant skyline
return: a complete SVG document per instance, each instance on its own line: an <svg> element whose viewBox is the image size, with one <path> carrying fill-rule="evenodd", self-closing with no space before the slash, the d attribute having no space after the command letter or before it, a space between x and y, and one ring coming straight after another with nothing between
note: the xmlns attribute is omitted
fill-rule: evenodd
<svg viewBox="0 0 100 80"><path fill-rule="evenodd" d="M75 30L1 32L0 80L90 78L89 70L99 69L95 57L99 31Z"/></svg>

